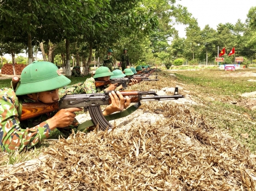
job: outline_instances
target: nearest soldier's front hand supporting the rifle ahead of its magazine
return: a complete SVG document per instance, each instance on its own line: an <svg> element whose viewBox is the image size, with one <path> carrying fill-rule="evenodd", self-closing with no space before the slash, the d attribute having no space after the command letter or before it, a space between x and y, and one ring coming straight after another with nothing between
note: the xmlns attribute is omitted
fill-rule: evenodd
<svg viewBox="0 0 256 191"><path fill-rule="evenodd" d="M109 97L111 98L111 104L108 105L102 112L104 116L107 116L108 114L114 113L116 111L123 111L131 104L130 98L128 96L124 98L119 91L117 91L117 93L112 91L109 93Z"/></svg>

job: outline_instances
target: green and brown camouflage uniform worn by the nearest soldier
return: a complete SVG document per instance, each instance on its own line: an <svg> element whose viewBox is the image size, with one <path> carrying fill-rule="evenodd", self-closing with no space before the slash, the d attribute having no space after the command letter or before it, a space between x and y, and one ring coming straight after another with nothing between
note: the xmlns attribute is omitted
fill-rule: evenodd
<svg viewBox="0 0 256 191"><path fill-rule="evenodd" d="M35 101L26 95L17 97L11 88L1 88L0 96L0 143L2 151L30 149L41 142L42 139L52 135L46 120L53 117L57 111L20 122L20 103ZM74 129L77 125L78 122L75 120L72 125L66 128L58 128L58 130L71 133L71 129Z"/></svg>

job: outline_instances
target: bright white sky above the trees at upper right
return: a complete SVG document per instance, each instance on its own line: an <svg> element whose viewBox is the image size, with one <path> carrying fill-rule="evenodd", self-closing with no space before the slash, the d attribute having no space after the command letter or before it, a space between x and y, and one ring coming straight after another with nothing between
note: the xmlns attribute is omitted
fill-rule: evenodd
<svg viewBox="0 0 256 191"><path fill-rule="evenodd" d="M201 30L206 24L216 30L218 24L235 24L239 18L244 23L249 9L256 7L255 0L177 0L177 3L186 7L197 19ZM185 27L175 26L180 37L186 37Z"/></svg>

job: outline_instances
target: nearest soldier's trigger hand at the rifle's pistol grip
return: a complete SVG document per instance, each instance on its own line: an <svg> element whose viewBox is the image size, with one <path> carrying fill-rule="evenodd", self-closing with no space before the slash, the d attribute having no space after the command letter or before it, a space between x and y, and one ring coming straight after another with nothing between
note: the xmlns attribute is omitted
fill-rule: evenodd
<svg viewBox="0 0 256 191"><path fill-rule="evenodd" d="M46 120L51 130L55 128L65 128L71 125L76 117L75 111L81 111L81 108L68 108L59 110L52 118Z"/></svg>

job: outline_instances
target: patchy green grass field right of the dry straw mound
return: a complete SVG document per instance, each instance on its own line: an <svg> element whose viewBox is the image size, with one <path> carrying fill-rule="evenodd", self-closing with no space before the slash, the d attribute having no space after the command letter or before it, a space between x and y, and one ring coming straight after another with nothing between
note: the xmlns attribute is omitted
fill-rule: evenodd
<svg viewBox="0 0 256 191"><path fill-rule="evenodd" d="M206 117L212 126L239 140L256 152L256 111L234 103L249 98L242 93L256 91L255 69L237 71L200 70L175 71L178 81L191 91L202 105L193 105L195 111ZM256 79L255 79L256 80ZM253 99L253 98L251 98ZM242 137L247 133L248 138Z"/></svg>

